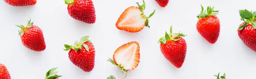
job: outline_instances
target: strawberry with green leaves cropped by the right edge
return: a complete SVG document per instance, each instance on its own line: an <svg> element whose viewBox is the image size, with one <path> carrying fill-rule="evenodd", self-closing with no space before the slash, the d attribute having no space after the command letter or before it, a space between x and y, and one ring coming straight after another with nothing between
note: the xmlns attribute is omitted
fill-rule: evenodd
<svg viewBox="0 0 256 79"><path fill-rule="evenodd" d="M238 28L238 35L247 47L256 51L256 11L239 10L241 20L244 23Z"/></svg>

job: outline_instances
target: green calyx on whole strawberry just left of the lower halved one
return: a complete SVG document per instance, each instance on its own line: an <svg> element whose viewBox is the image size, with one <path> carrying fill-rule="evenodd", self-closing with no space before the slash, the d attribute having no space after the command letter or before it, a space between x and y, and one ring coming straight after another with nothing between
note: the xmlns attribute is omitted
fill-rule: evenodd
<svg viewBox="0 0 256 79"><path fill-rule="evenodd" d="M88 40L89 36L84 36L80 39L80 42L76 41L74 43L74 45L67 45L67 44L64 44L65 48L64 49L65 51L68 51L70 49L74 49L76 51L78 51L79 49L82 49L83 46L84 48L86 49L86 51L89 51L89 47L88 45L84 44L84 42L90 42L90 40Z"/></svg>

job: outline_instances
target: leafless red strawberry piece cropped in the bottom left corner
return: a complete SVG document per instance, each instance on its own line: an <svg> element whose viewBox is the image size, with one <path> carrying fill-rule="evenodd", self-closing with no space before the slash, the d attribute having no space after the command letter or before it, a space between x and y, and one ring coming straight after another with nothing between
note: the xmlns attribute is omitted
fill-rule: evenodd
<svg viewBox="0 0 256 79"><path fill-rule="evenodd" d="M6 66L0 63L0 79L11 79L10 73Z"/></svg>

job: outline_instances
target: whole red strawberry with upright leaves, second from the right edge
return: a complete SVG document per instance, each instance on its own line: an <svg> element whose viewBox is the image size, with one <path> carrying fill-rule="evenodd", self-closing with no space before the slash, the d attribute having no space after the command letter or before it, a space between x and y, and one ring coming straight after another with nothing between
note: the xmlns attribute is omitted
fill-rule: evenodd
<svg viewBox="0 0 256 79"><path fill-rule="evenodd" d="M198 30L198 33L204 37L204 39L211 44L214 44L218 40L218 36L220 34L220 20L217 16L215 16L219 11L214 11L214 7L208 6L207 13L205 13L202 5L201 8L201 13L197 16L199 20L196 24L196 29Z"/></svg>

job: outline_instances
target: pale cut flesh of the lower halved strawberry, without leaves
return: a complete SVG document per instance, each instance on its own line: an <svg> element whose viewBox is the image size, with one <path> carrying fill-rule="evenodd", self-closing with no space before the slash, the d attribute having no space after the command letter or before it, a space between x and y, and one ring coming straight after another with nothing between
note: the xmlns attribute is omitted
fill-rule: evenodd
<svg viewBox="0 0 256 79"><path fill-rule="evenodd" d="M135 58L136 53L139 53L136 51L137 45L133 44L129 46L128 48L121 49L119 52L115 53L115 62L117 64L121 64L124 66L124 69L131 70L133 68L136 68L135 66L138 64L138 62L135 62L134 60L140 60Z"/></svg>

